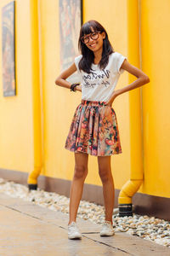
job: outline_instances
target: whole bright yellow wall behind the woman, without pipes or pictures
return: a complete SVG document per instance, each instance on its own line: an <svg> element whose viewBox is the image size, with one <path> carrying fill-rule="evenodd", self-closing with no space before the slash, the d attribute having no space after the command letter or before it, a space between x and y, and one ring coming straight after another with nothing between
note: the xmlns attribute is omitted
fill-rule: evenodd
<svg viewBox="0 0 170 256"><path fill-rule="evenodd" d="M1 1L0 7L9 1ZM137 1L138 2L138 1ZM144 143L144 183L140 192L169 197L169 112L168 59L169 26L168 0L142 0L141 12L141 64L150 77L150 84L142 90L142 117ZM65 139L71 119L81 95L73 94L54 84L59 75L59 1L39 1L40 74L42 97L42 174L71 180L74 170L74 154L65 150ZM30 1L16 1L16 80L17 96L3 97L0 79L0 168L31 172L33 168L32 131L32 70L31 70L31 14ZM127 0L84 0L83 21L99 20L105 26L113 48L129 55ZM1 28L0 28L1 30ZM0 31L0 37L2 32ZM166 38L166 40L165 40ZM0 38L0 48L2 48ZM132 46L133 47L133 46ZM131 52L133 50L131 49ZM0 58L2 58L0 51ZM133 63L136 65L136 63ZM2 62L0 61L0 65ZM0 70L2 67L0 66ZM135 78L134 78L135 79ZM129 84L124 72L117 89ZM130 92L129 92L130 93ZM122 154L113 155L112 172L116 189L130 177L131 141L129 93L116 98L116 110L122 143ZM132 92L131 92L132 93ZM132 102L131 102L132 103ZM134 102L135 109L135 102ZM138 134L134 134L138 137ZM136 163L138 165L138 163ZM89 156L89 172L86 183L101 185L97 158Z"/></svg>

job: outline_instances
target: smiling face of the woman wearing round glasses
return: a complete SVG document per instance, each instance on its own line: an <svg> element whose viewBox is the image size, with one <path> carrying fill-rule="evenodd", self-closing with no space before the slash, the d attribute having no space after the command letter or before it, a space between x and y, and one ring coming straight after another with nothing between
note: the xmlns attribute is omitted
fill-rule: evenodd
<svg viewBox="0 0 170 256"><path fill-rule="evenodd" d="M94 32L94 28L91 28L92 33ZM88 43L86 46L88 49L91 49L92 51L98 51L99 49L103 49L103 39L105 38L105 32L99 32L99 38L93 39L90 37L90 34L85 35L88 37Z"/></svg>

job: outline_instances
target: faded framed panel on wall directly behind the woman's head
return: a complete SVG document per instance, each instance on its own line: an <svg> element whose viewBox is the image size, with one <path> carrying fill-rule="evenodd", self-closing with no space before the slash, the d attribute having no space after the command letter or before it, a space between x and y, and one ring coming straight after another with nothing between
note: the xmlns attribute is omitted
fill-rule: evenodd
<svg viewBox="0 0 170 256"><path fill-rule="evenodd" d="M78 52L82 0L59 0L60 69L69 67Z"/></svg>

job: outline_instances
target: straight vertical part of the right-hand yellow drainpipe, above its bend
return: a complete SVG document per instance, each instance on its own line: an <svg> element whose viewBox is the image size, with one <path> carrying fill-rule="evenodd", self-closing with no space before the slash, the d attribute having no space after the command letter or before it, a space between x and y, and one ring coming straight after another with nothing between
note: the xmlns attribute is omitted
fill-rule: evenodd
<svg viewBox="0 0 170 256"><path fill-rule="evenodd" d="M136 0L127 0L127 47L129 62L139 67L139 1ZM128 73L129 84L135 79ZM128 92L132 179L143 178L140 90L141 88L137 88Z"/></svg>

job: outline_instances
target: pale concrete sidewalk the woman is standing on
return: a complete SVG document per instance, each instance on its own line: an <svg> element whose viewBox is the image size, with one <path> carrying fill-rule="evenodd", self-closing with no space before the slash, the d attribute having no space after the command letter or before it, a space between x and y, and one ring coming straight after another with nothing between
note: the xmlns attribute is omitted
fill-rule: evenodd
<svg viewBox="0 0 170 256"><path fill-rule="evenodd" d="M68 216L0 194L0 256L170 256L170 249L116 232L100 237L99 224L77 218L82 240L67 237Z"/></svg>

